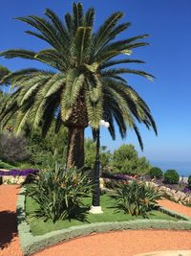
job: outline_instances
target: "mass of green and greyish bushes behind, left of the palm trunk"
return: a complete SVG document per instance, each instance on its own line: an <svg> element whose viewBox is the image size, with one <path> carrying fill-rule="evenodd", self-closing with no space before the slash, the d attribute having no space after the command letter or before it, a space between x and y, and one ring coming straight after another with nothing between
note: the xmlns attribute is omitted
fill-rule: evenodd
<svg viewBox="0 0 191 256"><path fill-rule="evenodd" d="M1 160L20 169L52 165L55 160L61 164L66 163L67 128L60 128L54 133L52 127L47 136L43 137L39 128L31 130L27 125L22 136L16 137L11 124L0 133Z"/></svg>

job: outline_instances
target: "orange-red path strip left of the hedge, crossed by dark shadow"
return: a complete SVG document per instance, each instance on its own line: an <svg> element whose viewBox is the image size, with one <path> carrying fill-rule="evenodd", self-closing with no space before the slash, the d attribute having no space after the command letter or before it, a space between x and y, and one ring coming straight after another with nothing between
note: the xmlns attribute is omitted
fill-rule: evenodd
<svg viewBox="0 0 191 256"><path fill-rule="evenodd" d="M0 255L21 256L16 228L17 185L0 186Z"/></svg>

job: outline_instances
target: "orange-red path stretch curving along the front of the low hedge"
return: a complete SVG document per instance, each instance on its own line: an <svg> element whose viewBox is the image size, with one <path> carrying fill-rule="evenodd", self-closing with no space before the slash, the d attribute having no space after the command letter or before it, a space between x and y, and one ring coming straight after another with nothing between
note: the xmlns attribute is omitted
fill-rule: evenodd
<svg viewBox="0 0 191 256"><path fill-rule="evenodd" d="M162 230L110 232L58 244L34 255L133 256L138 253L170 249L191 249L191 232Z"/></svg>

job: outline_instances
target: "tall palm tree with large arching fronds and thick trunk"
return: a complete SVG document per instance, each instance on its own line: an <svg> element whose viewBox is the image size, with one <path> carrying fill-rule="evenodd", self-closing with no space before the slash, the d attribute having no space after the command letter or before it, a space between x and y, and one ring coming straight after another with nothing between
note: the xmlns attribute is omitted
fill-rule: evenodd
<svg viewBox="0 0 191 256"><path fill-rule="evenodd" d="M118 24L121 12L113 13L93 32L95 10L91 8L84 13L81 3L74 3L73 13L66 13L65 22L50 9L45 15L46 18L29 15L17 19L31 25L35 31L26 33L46 41L49 48L39 52L13 49L0 53L5 58L38 60L53 68L22 69L3 79L2 82L11 81L14 88L0 111L3 125L17 113L17 133L30 121L33 128L40 127L46 134L56 118L56 129L64 125L69 130L68 166L83 166L84 129L91 124L95 131L100 119L106 117L113 139L116 121L122 138L127 128L133 128L143 149L137 122L154 128L156 133L157 128L149 107L121 75L136 74L150 80L153 76L117 65L143 63L127 56L134 48L147 45L139 39L148 35L115 40L131 25Z"/></svg>

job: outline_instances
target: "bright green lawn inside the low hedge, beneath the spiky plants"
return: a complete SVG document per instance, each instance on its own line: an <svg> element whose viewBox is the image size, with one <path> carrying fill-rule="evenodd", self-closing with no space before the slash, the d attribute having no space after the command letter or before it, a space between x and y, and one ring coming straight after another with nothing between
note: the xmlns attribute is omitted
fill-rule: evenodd
<svg viewBox="0 0 191 256"><path fill-rule="evenodd" d="M85 203L91 205L92 198L85 198ZM104 222L104 221L130 221L130 220L138 220L143 219L142 217L135 217L131 215L124 214L123 211L116 212L115 208L113 206L115 205L115 199L110 198L107 195L101 196L101 206L103 210L103 214L88 215L88 221L82 222L77 220L64 220L64 221L56 221L53 223L53 221L46 221L44 222L42 219L37 219L35 217L32 217L32 213L34 210L38 208L38 204L30 197L26 198L26 214L27 214L27 220L30 223L32 234L34 236L36 235L42 235L47 232L68 228L75 225L81 225L85 223L94 223L94 222ZM168 220L168 221L178 221L176 218L173 218L171 216L168 216L167 214L161 213L159 211L151 211L148 214L149 219L153 220Z"/></svg>

